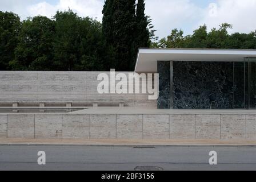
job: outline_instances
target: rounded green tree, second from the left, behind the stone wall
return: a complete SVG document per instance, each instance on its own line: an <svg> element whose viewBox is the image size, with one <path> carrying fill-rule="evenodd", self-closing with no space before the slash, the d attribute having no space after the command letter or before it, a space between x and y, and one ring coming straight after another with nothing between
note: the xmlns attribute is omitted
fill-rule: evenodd
<svg viewBox="0 0 256 182"><path fill-rule="evenodd" d="M54 22L46 16L35 16L22 22L15 48L13 70L49 71L53 61Z"/></svg>

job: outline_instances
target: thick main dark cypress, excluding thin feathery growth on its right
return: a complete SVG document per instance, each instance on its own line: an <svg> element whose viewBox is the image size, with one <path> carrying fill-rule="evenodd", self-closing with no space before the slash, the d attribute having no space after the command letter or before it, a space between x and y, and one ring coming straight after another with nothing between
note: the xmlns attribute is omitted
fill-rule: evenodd
<svg viewBox="0 0 256 182"><path fill-rule="evenodd" d="M103 36L107 46L113 48L115 69L129 71L134 62L135 0L106 0L102 13Z"/></svg>

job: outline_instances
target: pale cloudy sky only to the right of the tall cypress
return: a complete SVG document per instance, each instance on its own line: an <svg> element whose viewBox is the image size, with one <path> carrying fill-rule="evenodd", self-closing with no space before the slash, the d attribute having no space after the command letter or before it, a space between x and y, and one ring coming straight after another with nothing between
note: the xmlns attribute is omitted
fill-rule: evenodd
<svg viewBox="0 0 256 182"><path fill-rule="evenodd" d="M230 33L256 30L256 0L211 0L201 5L193 0L146 0L146 13L161 38L170 35L173 28L193 34L203 24L209 31L222 23L233 24Z"/></svg>

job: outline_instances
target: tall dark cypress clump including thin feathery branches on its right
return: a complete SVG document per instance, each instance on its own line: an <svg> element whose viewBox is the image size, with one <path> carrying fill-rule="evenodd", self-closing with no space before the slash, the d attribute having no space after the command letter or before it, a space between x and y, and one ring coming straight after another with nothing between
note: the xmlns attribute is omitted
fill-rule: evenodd
<svg viewBox="0 0 256 182"><path fill-rule="evenodd" d="M134 69L139 47L150 46L150 21L143 0L106 0L103 7L103 36L113 49L118 71ZM153 31L154 33L154 31Z"/></svg>

